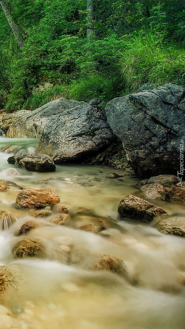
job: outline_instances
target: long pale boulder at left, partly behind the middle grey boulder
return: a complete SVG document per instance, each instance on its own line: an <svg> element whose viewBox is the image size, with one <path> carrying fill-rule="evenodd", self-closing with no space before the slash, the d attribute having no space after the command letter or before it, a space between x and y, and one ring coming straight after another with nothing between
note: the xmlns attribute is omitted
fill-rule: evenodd
<svg viewBox="0 0 185 329"><path fill-rule="evenodd" d="M2 118L1 129L6 137L39 138L51 115L61 114L65 110L83 104L85 103L61 97L34 111L21 110L16 113L5 114Z"/></svg>

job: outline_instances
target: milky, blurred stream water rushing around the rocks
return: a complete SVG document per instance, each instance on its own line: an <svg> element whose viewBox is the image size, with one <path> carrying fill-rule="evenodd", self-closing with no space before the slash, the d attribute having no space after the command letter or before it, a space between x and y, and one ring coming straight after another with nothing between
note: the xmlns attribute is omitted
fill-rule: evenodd
<svg viewBox="0 0 185 329"><path fill-rule="evenodd" d="M120 200L127 194L140 196L133 173L117 170L122 177L111 179L112 168L67 164L57 165L53 173L34 173L7 163L12 154L5 153L6 146L32 153L36 143L0 139L0 179L15 183L0 192L0 211L17 219L0 233L0 265L15 273L12 286L0 294L0 328L184 329L185 240L163 235L152 225L120 221ZM9 168L20 175L10 175ZM15 206L20 188L55 191L61 204L70 207L71 219L57 225L51 216L30 216L30 210ZM155 204L169 214L184 213L182 206L175 209L162 200ZM80 213L78 207L86 209ZM30 220L37 227L17 236ZM79 229L89 223L98 233ZM22 239L42 240L45 257L14 260L12 247ZM95 270L104 255L120 260L119 273Z"/></svg>

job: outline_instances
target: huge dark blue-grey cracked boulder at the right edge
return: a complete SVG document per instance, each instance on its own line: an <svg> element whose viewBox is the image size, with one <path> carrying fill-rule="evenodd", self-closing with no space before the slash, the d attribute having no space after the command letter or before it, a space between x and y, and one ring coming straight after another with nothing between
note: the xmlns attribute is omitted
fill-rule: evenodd
<svg viewBox="0 0 185 329"><path fill-rule="evenodd" d="M110 101L105 113L140 179L177 175L185 140L185 88L165 84Z"/></svg>

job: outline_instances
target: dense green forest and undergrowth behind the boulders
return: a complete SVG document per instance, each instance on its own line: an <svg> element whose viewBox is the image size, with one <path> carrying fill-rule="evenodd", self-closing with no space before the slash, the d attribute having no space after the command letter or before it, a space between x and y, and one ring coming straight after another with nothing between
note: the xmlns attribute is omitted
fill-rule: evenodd
<svg viewBox="0 0 185 329"><path fill-rule="evenodd" d="M185 1L11 0L0 10L0 109L108 102L185 79Z"/></svg>

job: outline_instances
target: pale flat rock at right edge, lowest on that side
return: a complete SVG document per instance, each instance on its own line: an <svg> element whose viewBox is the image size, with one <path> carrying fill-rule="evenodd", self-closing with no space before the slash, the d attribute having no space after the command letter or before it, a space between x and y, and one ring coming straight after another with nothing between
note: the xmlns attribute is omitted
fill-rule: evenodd
<svg viewBox="0 0 185 329"><path fill-rule="evenodd" d="M157 229L164 234L174 234L184 237L185 217L177 215L163 219L157 224Z"/></svg>

